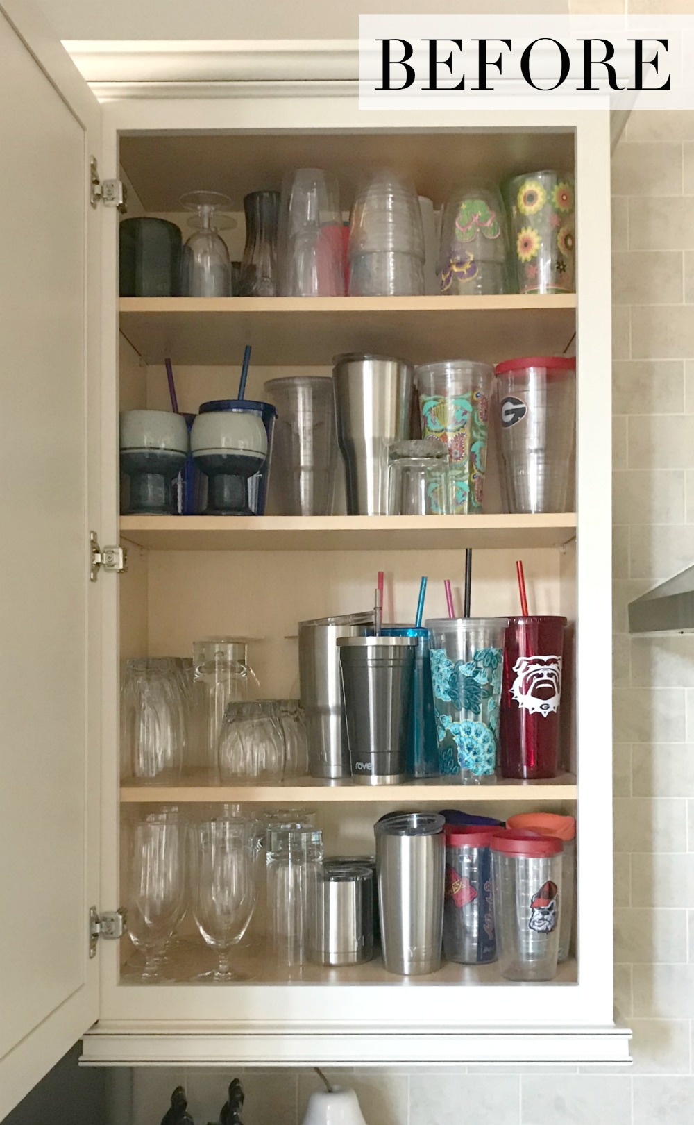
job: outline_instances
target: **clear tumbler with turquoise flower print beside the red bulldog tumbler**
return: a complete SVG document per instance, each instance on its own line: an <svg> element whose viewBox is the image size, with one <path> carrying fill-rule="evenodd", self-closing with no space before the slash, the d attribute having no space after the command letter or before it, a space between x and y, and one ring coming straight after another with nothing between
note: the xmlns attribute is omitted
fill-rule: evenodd
<svg viewBox="0 0 694 1125"><path fill-rule="evenodd" d="M480 784L496 770L507 623L507 618L425 622L431 638L439 770L447 780Z"/></svg>

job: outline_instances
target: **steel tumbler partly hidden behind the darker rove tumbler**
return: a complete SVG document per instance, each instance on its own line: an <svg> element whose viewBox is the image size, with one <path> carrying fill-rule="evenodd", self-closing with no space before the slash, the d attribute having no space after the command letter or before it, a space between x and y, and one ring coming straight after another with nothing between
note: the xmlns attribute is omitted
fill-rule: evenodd
<svg viewBox="0 0 694 1125"><path fill-rule="evenodd" d="M373 613L299 621L299 680L312 777L351 776L340 680L340 637L363 637Z"/></svg>

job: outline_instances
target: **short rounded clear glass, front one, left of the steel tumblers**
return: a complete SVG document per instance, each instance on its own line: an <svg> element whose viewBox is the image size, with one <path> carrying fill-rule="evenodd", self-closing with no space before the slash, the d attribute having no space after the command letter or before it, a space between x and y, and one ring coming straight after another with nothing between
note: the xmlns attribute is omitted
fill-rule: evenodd
<svg viewBox="0 0 694 1125"><path fill-rule="evenodd" d="M219 731L223 782L279 782L285 773L285 735L274 700L229 703Z"/></svg>

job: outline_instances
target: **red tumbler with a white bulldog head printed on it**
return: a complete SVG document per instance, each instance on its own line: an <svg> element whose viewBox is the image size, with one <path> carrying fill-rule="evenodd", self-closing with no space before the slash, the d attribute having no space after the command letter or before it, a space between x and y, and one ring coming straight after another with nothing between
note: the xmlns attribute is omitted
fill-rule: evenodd
<svg viewBox="0 0 694 1125"><path fill-rule="evenodd" d="M556 777L566 618L508 618L502 684L503 777Z"/></svg>

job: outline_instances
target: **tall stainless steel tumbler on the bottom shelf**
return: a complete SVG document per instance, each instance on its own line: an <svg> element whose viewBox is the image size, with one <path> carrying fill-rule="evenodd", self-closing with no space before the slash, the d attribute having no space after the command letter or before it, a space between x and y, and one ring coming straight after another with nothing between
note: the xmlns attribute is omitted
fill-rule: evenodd
<svg viewBox="0 0 694 1125"><path fill-rule="evenodd" d="M443 817L390 813L373 826L384 964L417 976L441 964Z"/></svg>

